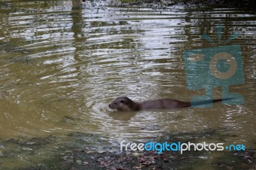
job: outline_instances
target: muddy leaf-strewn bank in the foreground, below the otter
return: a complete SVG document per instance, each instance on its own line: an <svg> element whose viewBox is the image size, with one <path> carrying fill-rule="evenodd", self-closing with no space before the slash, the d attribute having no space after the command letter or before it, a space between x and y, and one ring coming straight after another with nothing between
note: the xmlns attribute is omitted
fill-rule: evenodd
<svg viewBox="0 0 256 170"><path fill-rule="evenodd" d="M200 132L165 134L155 141L196 143L225 139L214 129ZM90 141L90 142L88 142ZM145 141L146 142L146 141ZM95 143L95 144L92 144ZM8 139L0 143L1 169L255 169L255 148L246 151L120 151L120 144L110 144L100 135L72 133L67 137L34 137ZM46 151L44 153L44 150ZM215 153L214 153L215 152ZM8 158L15 163L3 164ZM211 160L211 164L209 164ZM33 163L32 163L33 162ZM17 164L18 163L18 164ZM15 165L15 166L14 166ZM22 167L22 168L20 168Z"/></svg>

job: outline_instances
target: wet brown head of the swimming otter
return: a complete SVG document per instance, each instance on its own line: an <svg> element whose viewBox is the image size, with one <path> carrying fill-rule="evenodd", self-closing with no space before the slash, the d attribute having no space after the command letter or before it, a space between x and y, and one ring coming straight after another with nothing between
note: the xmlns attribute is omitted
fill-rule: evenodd
<svg viewBox="0 0 256 170"><path fill-rule="evenodd" d="M118 97L108 106L110 109L116 109L117 111L136 111L134 104L136 103L128 97Z"/></svg>

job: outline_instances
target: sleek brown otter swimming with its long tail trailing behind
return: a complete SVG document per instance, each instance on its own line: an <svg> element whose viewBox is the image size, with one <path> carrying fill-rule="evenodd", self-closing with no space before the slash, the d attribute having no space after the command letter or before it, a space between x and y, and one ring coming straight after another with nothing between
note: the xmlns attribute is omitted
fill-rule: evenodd
<svg viewBox="0 0 256 170"><path fill-rule="evenodd" d="M209 104L211 102L220 102L223 100L229 100L232 98L205 100L202 102L193 102L193 105ZM191 102L182 102L172 98L163 98L156 100L147 100L145 102L133 102L128 97L118 97L111 104L110 109L116 109L117 111L128 112L128 111L141 111L145 109L177 109L191 107Z"/></svg>

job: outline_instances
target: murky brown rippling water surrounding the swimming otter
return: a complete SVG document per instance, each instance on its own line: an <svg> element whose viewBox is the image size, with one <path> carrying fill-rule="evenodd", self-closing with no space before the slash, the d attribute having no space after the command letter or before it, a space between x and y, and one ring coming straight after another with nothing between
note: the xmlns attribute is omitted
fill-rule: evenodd
<svg viewBox="0 0 256 170"><path fill-rule="evenodd" d="M82 8L61 1L0 3L0 136L100 134L112 143L145 140L215 128L227 143L253 146L256 137L256 15L236 8L187 12L119 8L106 1L86 1ZM194 6L193 8L196 8ZM223 41L242 47L245 83L232 86L243 105L173 111L113 112L120 96L136 101L175 98L189 101L203 90L189 91L182 53ZM214 98L221 88L214 88ZM214 141L214 139L213 139ZM216 139L216 141L218 140Z"/></svg>

